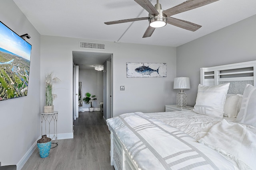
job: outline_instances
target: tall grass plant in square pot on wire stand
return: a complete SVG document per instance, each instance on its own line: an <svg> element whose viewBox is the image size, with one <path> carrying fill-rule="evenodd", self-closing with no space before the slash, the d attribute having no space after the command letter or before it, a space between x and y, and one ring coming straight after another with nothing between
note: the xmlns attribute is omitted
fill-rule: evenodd
<svg viewBox="0 0 256 170"><path fill-rule="evenodd" d="M59 78L53 76L53 72L45 75L45 106L44 113L52 113L54 111L54 106L52 104L54 98L57 97L54 94L53 83L60 81Z"/></svg>

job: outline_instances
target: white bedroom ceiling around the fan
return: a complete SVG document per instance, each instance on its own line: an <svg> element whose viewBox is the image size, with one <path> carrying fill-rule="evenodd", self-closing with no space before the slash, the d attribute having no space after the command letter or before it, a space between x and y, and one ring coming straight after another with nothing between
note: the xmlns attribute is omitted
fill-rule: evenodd
<svg viewBox="0 0 256 170"><path fill-rule="evenodd" d="M185 0L159 0L166 10ZM106 25L106 21L147 17L134 0L14 0L41 35L178 47L256 14L256 0L219 0L172 17L202 25L195 32L173 25L142 38L148 21ZM150 0L156 4L156 0ZM33 37L32 37L33 38Z"/></svg>

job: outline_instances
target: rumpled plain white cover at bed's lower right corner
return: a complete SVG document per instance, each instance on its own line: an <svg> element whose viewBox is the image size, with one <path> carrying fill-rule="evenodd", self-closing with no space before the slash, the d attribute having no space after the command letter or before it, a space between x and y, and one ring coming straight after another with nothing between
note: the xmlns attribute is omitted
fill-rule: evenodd
<svg viewBox="0 0 256 170"><path fill-rule="evenodd" d="M256 168L256 127L222 120L198 142L236 161L241 170Z"/></svg>

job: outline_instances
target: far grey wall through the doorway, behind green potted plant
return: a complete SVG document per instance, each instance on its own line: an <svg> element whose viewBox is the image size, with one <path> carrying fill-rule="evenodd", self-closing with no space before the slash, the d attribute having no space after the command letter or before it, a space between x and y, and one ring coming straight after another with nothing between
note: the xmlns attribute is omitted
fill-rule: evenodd
<svg viewBox="0 0 256 170"><path fill-rule="evenodd" d="M100 108L99 103L103 101L103 71L79 69L78 81L82 82L82 98L86 97L87 92L96 95L97 100L93 102L92 106ZM90 104L83 101L82 108L88 109L88 107L90 107Z"/></svg>

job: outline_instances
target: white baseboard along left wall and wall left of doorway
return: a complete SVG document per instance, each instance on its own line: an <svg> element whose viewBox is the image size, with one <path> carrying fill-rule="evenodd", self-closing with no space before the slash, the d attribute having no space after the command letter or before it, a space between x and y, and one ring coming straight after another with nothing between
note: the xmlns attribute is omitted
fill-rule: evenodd
<svg viewBox="0 0 256 170"><path fill-rule="evenodd" d="M50 135L50 138L53 135ZM73 133L58 133L57 135L57 139L73 139L74 138L74 134ZM38 139L36 139L36 141L33 143L33 145L30 147L30 149L28 149L28 151L26 152L26 154L21 158L21 160L18 162L17 166L17 170L21 170L21 168L24 166L24 164L27 162L28 158L32 155L32 153L34 152L34 150L37 148L37 141L41 139L41 136L38 137ZM39 154L39 153L38 153Z"/></svg>

